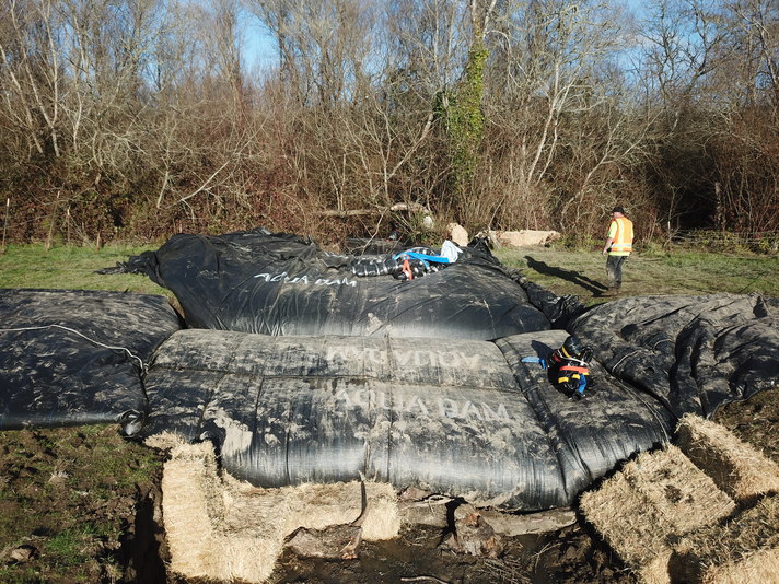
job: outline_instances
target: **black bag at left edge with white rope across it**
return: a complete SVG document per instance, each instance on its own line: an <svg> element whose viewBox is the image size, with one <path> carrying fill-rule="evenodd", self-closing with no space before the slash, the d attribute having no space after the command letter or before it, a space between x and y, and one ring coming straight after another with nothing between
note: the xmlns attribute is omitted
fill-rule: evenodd
<svg viewBox="0 0 779 584"><path fill-rule="evenodd" d="M138 432L143 366L178 328L163 296L0 289L0 430L119 422Z"/></svg>

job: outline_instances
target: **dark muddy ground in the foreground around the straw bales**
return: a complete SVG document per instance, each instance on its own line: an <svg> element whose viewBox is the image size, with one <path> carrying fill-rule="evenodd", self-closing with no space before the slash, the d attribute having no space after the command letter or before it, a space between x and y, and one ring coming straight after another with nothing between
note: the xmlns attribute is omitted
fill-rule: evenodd
<svg viewBox="0 0 779 584"><path fill-rule="evenodd" d="M779 462L779 388L725 406L714 420ZM162 460L113 427L0 432L0 582L201 584L166 570ZM636 582L581 518L553 534L511 538L497 559L455 553L446 535L409 527L394 540L363 542L348 561L287 551L270 582Z"/></svg>

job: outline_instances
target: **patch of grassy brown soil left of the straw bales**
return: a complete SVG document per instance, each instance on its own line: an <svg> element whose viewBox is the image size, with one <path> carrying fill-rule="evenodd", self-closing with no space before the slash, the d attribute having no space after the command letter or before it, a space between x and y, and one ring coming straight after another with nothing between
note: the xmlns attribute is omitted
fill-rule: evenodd
<svg viewBox="0 0 779 584"><path fill-rule="evenodd" d="M0 432L0 582L164 582L161 468L116 427Z"/></svg>

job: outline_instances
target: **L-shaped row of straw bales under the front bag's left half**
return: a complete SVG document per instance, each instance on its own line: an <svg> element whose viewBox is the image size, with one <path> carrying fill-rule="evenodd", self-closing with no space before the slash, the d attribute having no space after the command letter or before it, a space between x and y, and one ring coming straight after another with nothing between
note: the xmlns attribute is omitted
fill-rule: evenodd
<svg viewBox="0 0 779 584"><path fill-rule="evenodd" d="M298 527L351 523L362 510L358 481L259 489L220 474L210 443L173 446L162 491L172 571L221 581L265 582ZM367 482L365 491L363 539L395 537L394 489Z"/></svg>

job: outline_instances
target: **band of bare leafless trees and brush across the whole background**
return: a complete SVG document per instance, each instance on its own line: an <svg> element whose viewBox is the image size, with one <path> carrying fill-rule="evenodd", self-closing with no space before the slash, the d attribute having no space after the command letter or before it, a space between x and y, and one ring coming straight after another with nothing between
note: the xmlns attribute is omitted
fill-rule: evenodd
<svg viewBox="0 0 779 584"><path fill-rule="evenodd" d="M766 229L776 1L650 0L636 28L616 5L7 0L0 188L23 192L25 237L70 209L84 236L335 238L396 202L472 230L586 236L616 200L644 224ZM246 70L246 8L276 70Z"/></svg>

